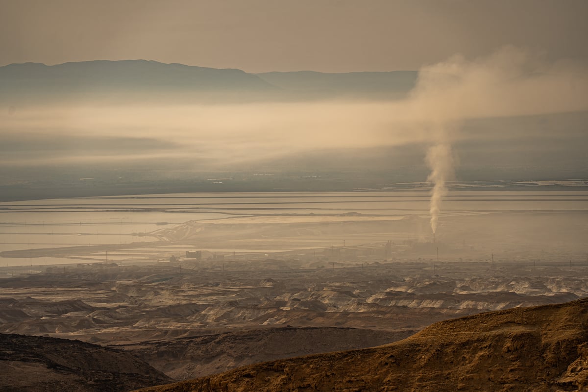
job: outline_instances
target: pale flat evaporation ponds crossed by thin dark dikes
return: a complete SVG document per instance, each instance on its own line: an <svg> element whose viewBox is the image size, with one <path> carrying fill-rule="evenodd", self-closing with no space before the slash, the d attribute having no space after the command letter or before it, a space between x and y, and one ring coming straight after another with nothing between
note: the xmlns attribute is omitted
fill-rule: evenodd
<svg viewBox="0 0 588 392"><path fill-rule="evenodd" d="M149 233L189 220L271 217L275 222L280 216L328 220L352 212L359 214L355 219L427 216L428 204L428 192L181 193L5 202L0 203L0 252L131 242L148 246L156 240ZM445 217L493 212L585 213L588 192L450 192L442 209ZM124 253L128 257L129 252ZM116 259L116 254L111 257ZM0 265L27 262L0 258Z"/></svg>

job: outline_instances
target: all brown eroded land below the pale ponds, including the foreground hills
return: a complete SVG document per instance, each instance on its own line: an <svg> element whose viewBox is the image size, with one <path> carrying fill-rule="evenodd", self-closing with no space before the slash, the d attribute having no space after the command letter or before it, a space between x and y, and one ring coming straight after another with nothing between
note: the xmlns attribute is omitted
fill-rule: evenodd
<svg viewBox="0 0 588 392"><path fill-rule="evenodd" d="M385 259L391 247L69 264L6 277L0 386L124 391L196 377L205 378L161 390L584 385L588 305L574 300L588 294L586 263L547 252L439 260L445 248L435 243L399 245L405 259ZM488 311L500 312L472 316ZM462 316L472 317L426 328ZM357 349L365 350L348 351ZM252 367L231 371L240 366Z"/></svg>

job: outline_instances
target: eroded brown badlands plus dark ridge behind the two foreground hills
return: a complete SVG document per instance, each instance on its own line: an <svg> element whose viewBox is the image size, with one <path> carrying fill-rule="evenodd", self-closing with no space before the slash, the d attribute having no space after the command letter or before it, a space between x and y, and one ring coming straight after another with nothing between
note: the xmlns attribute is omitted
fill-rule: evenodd
<svg viewBox="0 0 588 392"><path fill-rule="evenodd" d="M183 380L262 361L379 346L403 339L406 331L483 311L588 296L588 267L572 270L562 255L550 257L537 263L527 256L497 263L328 265L312 258L51 267L1 279L0 332L124 345L119 347ZM365 362L377 369L377 363ZM38 364L19 366L50 377ZM0 373L8 379L2 382L11 385L13 374L12 368ZM298 376L292 377L288 388L298 385ZM366 385L356 388L372 388Z"/></svg>

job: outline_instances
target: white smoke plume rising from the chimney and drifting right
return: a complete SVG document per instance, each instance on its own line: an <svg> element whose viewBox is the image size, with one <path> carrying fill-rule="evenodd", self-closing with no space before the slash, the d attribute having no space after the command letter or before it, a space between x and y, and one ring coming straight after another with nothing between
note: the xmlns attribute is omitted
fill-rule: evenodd
<svg viewBox="0 0 588 392"><path fill-rule="evenodd" d="M529 53L505 47L484 58L462 56L420 70L409 100L410 112L432 145L431 229L439 227L440 206L453 179L452 143L466 119L572 112L588 108L586 69L565 62L551 65ZM500 130L496 130L499 133Z"/></svg>

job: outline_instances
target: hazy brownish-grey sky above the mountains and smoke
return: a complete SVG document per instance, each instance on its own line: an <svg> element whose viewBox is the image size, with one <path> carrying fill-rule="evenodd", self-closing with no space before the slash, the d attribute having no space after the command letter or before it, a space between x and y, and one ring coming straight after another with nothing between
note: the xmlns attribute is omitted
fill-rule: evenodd
<svg viewBox="0 0 588 392"><path fill-rule="evenodd" d="M504 45L588 63L587 18L586 0L0 0L0 65L392 71Z"/></svg>

